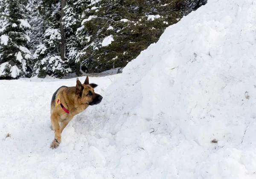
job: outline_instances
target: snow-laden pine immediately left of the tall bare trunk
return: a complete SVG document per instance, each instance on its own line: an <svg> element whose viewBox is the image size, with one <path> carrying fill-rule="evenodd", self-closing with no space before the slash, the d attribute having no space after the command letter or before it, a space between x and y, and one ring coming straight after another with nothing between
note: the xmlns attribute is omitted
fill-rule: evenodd
<svg viewBox="0 0 256 179"><path fill-rule="evenodd" d="M35 74L44 78L54 75L61 78L70 72L68 59L61 58L61 0L41 0L38 3L38 12L44 19L41 44L36 46L33 58Z"/></svg>

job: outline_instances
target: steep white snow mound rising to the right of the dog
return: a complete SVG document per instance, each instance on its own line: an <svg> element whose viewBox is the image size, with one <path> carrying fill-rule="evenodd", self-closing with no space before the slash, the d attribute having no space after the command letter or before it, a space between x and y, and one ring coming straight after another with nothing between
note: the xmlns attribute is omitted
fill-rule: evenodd
<svg viewBox="0 0 256 179"><path fill-rule="evenodd" d="M255 49L253 0L211 0L169 26L83 114L109 133L114 176L255 178Z"/></svg>

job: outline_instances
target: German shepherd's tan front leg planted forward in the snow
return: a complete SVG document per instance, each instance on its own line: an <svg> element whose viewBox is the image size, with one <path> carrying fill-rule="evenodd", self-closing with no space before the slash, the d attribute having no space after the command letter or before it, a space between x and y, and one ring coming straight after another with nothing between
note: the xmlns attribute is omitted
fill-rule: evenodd
<svg viewBox="0 0 256 179"><path fill-rule="evenodd" d="M59 144L61 143L61 128L60 125L58 123L58 115L56 115L55 113L52 113L51 115L51 122L52 122L52 127L54 130L54 139L52 141L51 144L51 148L57 148L59 146Z"/></svg>

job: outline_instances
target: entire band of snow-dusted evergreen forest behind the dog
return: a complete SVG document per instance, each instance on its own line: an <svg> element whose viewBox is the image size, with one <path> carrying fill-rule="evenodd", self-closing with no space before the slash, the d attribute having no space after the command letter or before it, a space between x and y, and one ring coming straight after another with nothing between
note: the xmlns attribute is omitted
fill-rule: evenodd
<svg viewBox="0 0 256 179"><path fill-rule="evenodd" d="M0 78L124 67L207 0L0 0Z"/></svg>

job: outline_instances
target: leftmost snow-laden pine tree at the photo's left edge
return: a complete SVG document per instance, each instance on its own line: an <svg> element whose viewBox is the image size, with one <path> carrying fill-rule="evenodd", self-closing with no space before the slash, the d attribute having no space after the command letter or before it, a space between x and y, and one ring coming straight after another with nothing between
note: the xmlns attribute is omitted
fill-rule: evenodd
<svg viewBox="0 0 256 179"><path fill-rule="evenodd" d="M26 1L0 1L0 78L31 75L31 52Z"/></svg>

